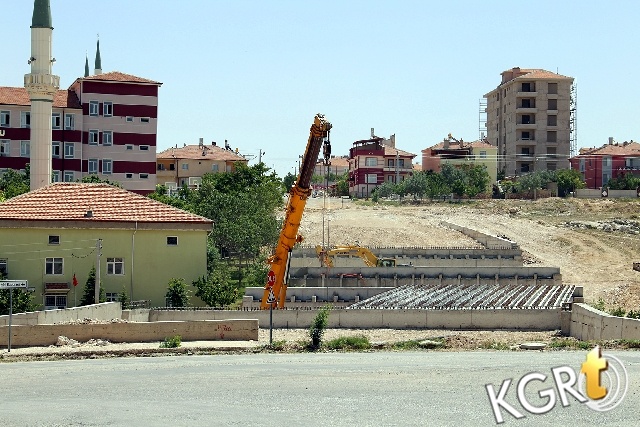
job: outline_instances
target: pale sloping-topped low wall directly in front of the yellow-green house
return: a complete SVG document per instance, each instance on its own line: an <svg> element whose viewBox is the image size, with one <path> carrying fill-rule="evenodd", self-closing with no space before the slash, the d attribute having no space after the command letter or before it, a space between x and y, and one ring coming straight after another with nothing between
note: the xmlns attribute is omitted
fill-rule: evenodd
<svg viewBox="0 0 640 427"><path fill-rule="evenodd" d="M122 308L119 302L104 302L101 304L82 307L65 308L60 310L33 311L30 313L14 314L12 325L51 325L54 323L80 320L84 318L111 320L122 317ZM0 326L9 325L9 316L0 316Z"/></svg>

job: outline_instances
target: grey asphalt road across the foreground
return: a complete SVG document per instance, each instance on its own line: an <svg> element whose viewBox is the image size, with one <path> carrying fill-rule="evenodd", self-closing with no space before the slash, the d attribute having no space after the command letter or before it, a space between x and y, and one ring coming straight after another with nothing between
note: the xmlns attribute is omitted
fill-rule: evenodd
<svg viewBox="0 0 640 427"><path fill-rule="evenodd" d="M604 352L607 355L607 352ZM629 373L620 406L570 398L544 415L516 403L553 386L551 368L580 369L586 352L244 354L0 364L2 426L491 426L486 384L514 378L507 426L630 426L640 419L640 352L614 352Z"/></svg>

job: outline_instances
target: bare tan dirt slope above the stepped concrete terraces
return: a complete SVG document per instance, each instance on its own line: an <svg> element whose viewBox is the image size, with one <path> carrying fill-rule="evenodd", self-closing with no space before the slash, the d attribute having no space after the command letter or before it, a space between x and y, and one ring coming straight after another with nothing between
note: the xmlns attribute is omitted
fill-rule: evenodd
<svg viewBox="0 0 640 427"><path fill-rule="evenodd" d="M640 201L614 199L481 200L416 205L310 199L305 245L477 247L441 225L453 222L505 236L525 262L560 267L563 282L584 286L587 301L640 309ZM328 230L328 231L327 231Z"/></svg>

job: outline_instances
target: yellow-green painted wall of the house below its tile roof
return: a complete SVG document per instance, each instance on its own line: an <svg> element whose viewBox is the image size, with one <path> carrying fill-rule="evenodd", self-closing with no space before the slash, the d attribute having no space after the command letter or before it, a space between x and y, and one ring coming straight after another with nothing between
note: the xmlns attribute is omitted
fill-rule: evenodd
<svg viewBox="0 0 640 427"><path fill-rule="evenodd" d="M59 245L49 245L49 235L59 235ZM167 236L177 236L178 245L168 246ZM89 270L96 265L96 240L102 239L100 271L105 292L124 287L133 300L150 300L164 306L171 278L191 284L206 274L205 230L117 230L117 229L0 229L0 259L7 259L8 278L28 280L35 288L34 300L44 304L45 283L68 283L67 305L75 305L73 274L79 302ZM45 258L63 258L63 274L45 274ZM108 275L107 258L123 258L124 274ZM202 304L192 298L196 305Z"/></svg>

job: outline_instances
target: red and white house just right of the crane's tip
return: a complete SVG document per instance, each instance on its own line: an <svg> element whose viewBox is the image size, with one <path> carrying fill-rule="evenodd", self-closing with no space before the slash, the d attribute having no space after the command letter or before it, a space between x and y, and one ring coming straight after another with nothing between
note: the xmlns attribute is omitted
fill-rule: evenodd
<svg viewBox="0 0 640 427"><path fill-rule="evenodd" d="M415 154L396 148L396 136L373 135L349 150L349 194L369 197L383 182L401 182L413 174Z"/></svg>

